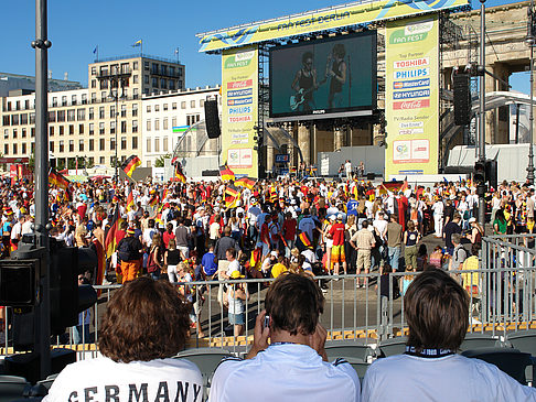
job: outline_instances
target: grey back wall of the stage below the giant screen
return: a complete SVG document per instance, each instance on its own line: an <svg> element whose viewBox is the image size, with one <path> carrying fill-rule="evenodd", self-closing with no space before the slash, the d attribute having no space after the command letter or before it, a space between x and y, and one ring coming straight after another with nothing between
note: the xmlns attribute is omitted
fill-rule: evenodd
<svg viewBox="0 0 536 402"><path fill-rule="evenodd" d="M365 163L365 172L384 175L385 148L383 146L343 146L340 152L319 152L319 174L335 176L341 163L352 162L354 169L361 161Z"/></svg>

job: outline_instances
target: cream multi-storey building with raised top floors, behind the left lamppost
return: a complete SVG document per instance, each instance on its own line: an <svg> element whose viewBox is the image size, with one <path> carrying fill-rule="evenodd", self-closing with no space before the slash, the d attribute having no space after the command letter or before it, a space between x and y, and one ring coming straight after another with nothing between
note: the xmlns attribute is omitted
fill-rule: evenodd
<svg viewBox="0 0 536 402"><path fill-rule="evenodd" d="M143 157L141 96L184 89L185 67L149 56L99 59L88 65L88 88L49 94L49 150L58 169L114 166ZM11 90L0 98L0 153L30 156L35 146L35 95ZM146 165L146 164L144 164Z"/></svg>

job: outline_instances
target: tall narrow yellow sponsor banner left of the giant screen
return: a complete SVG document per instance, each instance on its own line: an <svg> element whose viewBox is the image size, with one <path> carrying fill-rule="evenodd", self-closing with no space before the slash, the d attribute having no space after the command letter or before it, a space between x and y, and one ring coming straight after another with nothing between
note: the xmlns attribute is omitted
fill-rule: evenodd
<svg viewBox="0 0 536 402"><path fill-rule="evenodd" d="M222 55L222 164L236 176L258 177L254 127L258 110L257 46L232 48Z"/></svg>

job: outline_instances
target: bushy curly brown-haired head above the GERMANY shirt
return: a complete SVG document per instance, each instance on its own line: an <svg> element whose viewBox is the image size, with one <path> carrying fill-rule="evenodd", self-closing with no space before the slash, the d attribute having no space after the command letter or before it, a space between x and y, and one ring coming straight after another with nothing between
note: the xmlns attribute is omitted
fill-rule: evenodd
<svg viewBox="0 0 536 402"><path fill-rule="evenodd" d="M187 307L172 284L139 278L108 304L99 349L114 361L169 358L184 348L189 325Z"/></svg>

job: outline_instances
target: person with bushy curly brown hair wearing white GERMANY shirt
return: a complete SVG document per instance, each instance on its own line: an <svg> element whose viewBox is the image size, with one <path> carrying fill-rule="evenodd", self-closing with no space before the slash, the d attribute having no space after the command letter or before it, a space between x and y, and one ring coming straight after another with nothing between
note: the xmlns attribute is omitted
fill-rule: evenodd
<svg viewBox="0 0 536 402"><path fill-rule="evenodd" d="M200 370L172 358L184 348L189 327L189 307L172 284L147 276L126 283L99 328L103 356L68 365L43 401L201 401Z"/></svg>

